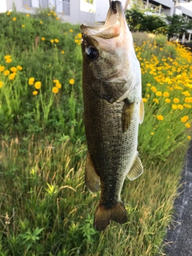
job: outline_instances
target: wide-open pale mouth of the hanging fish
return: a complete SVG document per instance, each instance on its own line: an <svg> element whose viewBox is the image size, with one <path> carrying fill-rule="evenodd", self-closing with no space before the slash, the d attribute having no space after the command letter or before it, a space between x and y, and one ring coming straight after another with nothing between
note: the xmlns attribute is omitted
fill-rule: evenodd
<svg viewBox="0 0 192 256"><path fill-rule="evenodd" d="M115 38L126 30L126 18L119 1L110 2L110 8L106 15L106 22L100 26L81 25L83 35L94 38Z"/></svg>

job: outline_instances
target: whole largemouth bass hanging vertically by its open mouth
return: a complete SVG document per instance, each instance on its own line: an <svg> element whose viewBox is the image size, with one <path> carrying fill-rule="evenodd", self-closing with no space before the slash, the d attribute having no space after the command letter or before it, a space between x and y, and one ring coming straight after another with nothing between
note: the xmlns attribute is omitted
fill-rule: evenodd
<svg viewBox="0 0 192 256"><path fill-rule="evenodd" d="M141 67L121 2L110 3L104 25L80 27L85 183L93 193L101 186L94 229L102 231L111 221L127 222L122 186L143 173L137 150L144 118Z"/></svg>

